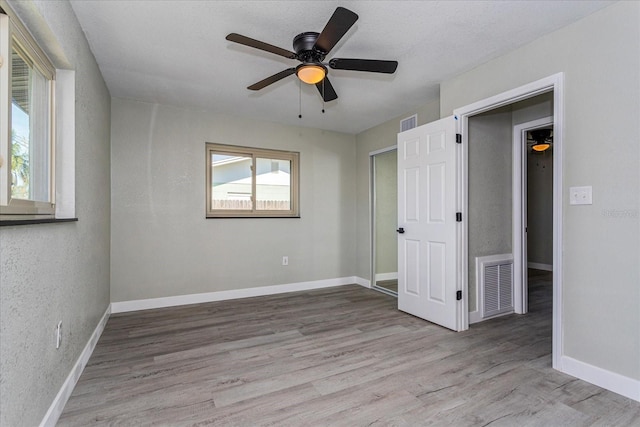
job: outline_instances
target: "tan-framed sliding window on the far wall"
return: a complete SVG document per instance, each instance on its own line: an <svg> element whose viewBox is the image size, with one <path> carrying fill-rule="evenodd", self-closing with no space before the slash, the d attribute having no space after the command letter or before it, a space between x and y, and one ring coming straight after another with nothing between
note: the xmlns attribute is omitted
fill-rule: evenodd
<svg viewBox="0 0 640 427"><path fill-rule="evenodd" d="M292 151L206 144L207 217L298 217Z"/></svg>

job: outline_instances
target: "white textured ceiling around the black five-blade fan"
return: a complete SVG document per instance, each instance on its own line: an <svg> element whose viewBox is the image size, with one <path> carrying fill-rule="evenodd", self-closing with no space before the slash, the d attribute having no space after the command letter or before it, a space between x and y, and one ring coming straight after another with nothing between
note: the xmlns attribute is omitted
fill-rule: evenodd
<svg viewBox="0 0 640 427"><path fill-rule="evenodd" d="M438 97L439 83L610 4L608 1L72 0L114 97L358 133ZM231 32L293 50L337 6L360 19L327 56L397 60L394 75L329 70L326 103L289 76L298 64L225 40ZM544 60L544 58L540 58ZM298 118L302 106L302 119Z"/></svg>

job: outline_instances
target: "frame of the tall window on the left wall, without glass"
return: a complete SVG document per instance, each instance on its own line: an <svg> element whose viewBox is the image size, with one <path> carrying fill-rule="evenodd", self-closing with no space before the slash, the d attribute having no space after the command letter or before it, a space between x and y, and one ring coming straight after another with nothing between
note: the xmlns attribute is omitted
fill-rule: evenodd
<svg viewBox="0 0 640 427"><path fill-rule="evenodd" d="M55 87L56 70L33 37L10 11L0 14L0 221L29 220L55 217ZM49 136L48 163L49 194L47 202L22 200L11 197L11 49L17 44L28 57L30 65L48 80ZM31 165L34 167L35 165Z"/></svg>

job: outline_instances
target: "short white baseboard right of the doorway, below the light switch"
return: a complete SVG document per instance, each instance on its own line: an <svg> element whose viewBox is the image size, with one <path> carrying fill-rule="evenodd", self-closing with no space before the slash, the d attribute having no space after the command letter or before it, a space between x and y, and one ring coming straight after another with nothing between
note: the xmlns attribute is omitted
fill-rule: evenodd
<svg viewBox="0 0 640 427"><path fill-rule="evenodd" d="M640 380L634 380L568 356L562 356L561 366L561 371L565 374L640 402Z"/></svg>

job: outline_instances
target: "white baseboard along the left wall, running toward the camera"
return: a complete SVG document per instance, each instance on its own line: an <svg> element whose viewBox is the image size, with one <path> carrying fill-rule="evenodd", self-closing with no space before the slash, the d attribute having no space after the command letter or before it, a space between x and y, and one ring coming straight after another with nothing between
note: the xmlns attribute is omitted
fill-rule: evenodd
<svg viewBox="0 0 640 427"><path fill-rule="evenodd" d="M98 326L96 326L96 329L94 329L93 333L89 337L87 345L84 346L78 360L76 360L73 368L71 368L71 372L67 375L67 379L62 384L62 387L60 387L60 391L58 391L55 399L53 399L53 402L51 403L51 406L49 406L47 413L44 415L42 422L40 422L40 427L54 427L58 422L58 418L62 415L64 405L67 404L69 396L71 396L78 379L80 379L80 374L82 374L84 367L87 366L87 362L89 361L93 350L96 348L96 344L100 339L100 335L102 335L102 331L104 331L104 327L106 326L110 315L111 306L107 307L107 310L102 315L100 322L98 322Z"/></svg>

